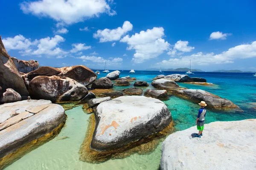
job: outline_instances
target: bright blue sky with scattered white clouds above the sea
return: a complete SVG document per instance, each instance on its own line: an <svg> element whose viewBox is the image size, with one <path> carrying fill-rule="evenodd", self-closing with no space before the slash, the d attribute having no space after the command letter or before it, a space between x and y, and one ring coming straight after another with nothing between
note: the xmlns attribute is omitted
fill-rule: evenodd
<svg viewBox="0 0 256 170"><path fill-rule="evenodd" d="M41 66L256 71L253 0L1 1L8 53Z"/></svg>

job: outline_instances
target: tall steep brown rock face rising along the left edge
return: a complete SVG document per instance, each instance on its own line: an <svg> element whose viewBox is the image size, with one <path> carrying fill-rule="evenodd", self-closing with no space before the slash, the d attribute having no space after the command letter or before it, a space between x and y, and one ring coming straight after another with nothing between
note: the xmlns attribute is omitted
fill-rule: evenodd
<svg viewBox="0 0 256 170"><path fill-rule="evenodd" d="M0 36L0 86L3 91L7 88L12 88L22 96L28 96L29 93L21 78L19 71L17 70L14 62L4 48L3 42Z"/></svg>

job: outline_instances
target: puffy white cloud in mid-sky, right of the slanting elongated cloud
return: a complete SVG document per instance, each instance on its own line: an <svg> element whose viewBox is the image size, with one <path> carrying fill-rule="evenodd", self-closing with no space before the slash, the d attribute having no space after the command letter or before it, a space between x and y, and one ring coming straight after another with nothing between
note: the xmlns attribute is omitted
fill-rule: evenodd
<svg viewBox="0 0 256 170"><path fill-rule="evenodd" d="M154 27L147 31L135 33L131 37L126 35L120 42L126 42L128 50L135 50L134 63L142 63L147 59L158 57L163 51L169 49L170 44L162 38L163 36L164 29L162 27Z"/></svg>

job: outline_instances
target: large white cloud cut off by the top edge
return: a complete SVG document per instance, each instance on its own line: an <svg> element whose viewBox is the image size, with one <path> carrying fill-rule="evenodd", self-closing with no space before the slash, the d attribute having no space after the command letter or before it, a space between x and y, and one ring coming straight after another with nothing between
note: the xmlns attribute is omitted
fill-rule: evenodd
<svg viewBox="0 0 256 170"><path fill-rule="evenodd" d="M111 9L110 4L106 0L35 0L21 3L20 9L25 14L51 17L58 22L73 24L99 17L103 13L115 15L116 11Z"/></svg>

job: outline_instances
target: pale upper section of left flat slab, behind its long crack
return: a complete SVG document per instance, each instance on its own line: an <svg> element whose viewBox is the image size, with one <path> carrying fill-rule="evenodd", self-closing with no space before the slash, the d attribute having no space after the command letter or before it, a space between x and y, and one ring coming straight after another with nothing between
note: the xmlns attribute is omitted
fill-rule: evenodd
<svg viewBox="0 0 256 170"><path fill-rule="evenodd" d="M10 119L19 113L25 112L29 108L49 104L52 104L49 100L23 100L0 105L0 123L5 122L7 119Z"/></svg>

